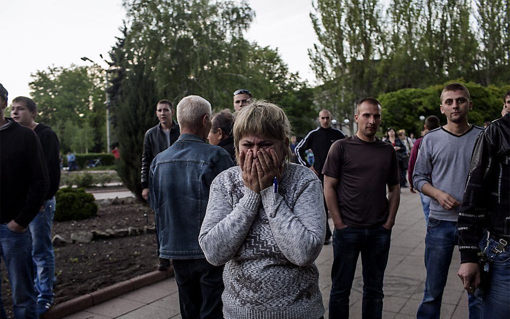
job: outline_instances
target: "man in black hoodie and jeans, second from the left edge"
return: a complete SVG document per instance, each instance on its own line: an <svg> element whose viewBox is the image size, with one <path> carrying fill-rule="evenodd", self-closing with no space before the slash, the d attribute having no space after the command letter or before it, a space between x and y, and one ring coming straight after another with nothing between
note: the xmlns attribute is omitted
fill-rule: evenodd
<svg viewBox="0 0 510 319"><path fill-rule="evenodd" d="M37 312L43 314L53 304L53 284L55 277L55 253L52 243L53 217L55 216L55 193L60 184L60 144L57 134L47 125L37 123L36 103L25 96L12 100L11 117L24 127L34 130L41 142L42 151L49 175L49 190L44 208L30 223L32 233L32 259L36 270L35 291Z"/></svg>

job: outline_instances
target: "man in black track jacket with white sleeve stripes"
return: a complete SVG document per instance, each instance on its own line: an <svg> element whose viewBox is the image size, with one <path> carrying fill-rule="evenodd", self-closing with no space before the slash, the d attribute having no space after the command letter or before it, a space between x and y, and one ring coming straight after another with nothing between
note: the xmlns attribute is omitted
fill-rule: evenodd
<svg viewBox="0 0 510 319"><path fill-rule="evenodd" d="M296 146L294 152L297 156L297 161L309 167L324 184L324 175L322 175L322 167L326 161L327 153L331 145L339 139L345 138L345 134L339 129L331 127L331 112L328 110L322 110L319 112L319 124L315 130L310 131ZM307 161L305 151L311 149L314 153L314 163L310 165ZM327 223L328 210L326 200L324 200L324 208L326 211L326 238L324 244L328 244L332 236L331 230Z"/></svg>

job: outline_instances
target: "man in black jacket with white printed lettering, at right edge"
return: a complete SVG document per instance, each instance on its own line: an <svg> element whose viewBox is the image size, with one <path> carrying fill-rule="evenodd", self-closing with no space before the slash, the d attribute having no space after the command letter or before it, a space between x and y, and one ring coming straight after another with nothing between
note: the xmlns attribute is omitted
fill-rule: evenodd
<svg viewBox="0 0 510 319"><path fill-rule="evenodd" d="M484 229L489 276L483 290L483 318L510 317L510 91L504 97L503 117L493 121L475 144L469 175L458 213L461 278L468 293L480 285L478 262ZM508 105L506 104L508 101ZM485 286L485 285L484 285Z"/></svg>

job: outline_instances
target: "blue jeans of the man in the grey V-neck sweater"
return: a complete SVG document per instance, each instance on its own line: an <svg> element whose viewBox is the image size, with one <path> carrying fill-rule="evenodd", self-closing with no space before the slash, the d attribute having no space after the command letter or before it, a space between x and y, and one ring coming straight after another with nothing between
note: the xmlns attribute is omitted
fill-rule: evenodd
<svg viewBox="0 0 510 319"><path fill-rule="evenodd" d="M448 278L453 249L458 241L457 222L428 219L425 236L425 291L418 307L417 319L440 318L443 292ZM485 241L485 240L482 240ZM469 318L478 319L481 315L482 292L476 289L474 295L468 295Z"/></svg>

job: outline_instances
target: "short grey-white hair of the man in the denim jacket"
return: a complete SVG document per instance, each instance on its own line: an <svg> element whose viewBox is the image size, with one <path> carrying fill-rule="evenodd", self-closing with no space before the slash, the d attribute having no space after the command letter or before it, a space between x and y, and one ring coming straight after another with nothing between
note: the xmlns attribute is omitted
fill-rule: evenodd
<svg viewBox="0 0 510 319"><path fill-rule="evenodd" d="M188 95L177 104L177 122L186 129L202 126L202 116L212 117L211 103L198 95Z"/></svg>

